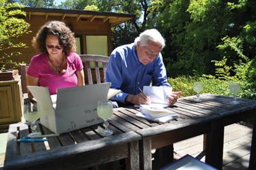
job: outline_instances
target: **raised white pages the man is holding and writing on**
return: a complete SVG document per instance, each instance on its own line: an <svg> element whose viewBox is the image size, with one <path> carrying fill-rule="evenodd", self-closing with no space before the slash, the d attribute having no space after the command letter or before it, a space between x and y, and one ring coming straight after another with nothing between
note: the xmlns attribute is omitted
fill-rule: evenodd
<svg viewBox="0 0 256 170"><path fill-rule="evenodd" d="M151 98L152 107L168 107L170 105L166 97L172 93L171 87L163 86L144 86L143 93Z"/></svg>

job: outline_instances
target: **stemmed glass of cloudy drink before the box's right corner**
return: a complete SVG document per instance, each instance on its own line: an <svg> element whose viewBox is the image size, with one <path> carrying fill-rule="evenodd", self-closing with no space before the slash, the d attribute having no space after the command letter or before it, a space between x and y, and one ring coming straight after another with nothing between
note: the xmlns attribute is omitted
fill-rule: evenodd
<svg viewBox="0 0 256 170"><path fill-rule="evenodd" d="M100 135L111 135L113 134L113 130L108 129L108 118L111 118L113 115L113 105L110 101L99 101L97 105L97 113L102 120L104 120L103 126L105 127Z"/></svg>

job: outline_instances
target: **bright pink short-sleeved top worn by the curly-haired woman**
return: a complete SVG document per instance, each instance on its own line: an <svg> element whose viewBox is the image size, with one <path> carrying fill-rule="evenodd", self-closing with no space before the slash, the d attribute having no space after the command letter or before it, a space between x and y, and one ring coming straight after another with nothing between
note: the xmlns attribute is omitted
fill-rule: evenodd
<svg viewBox="0 0 256 170"><path fill-rule="evenodd" d="M38 77L38 86L48 87L50 94L55 95L57 89L77 86L76 71L82 69L83 62L74 52L67 56L67 69L61 74L51 69L45 54L38 54L31 59L27 73Z"/></svg>

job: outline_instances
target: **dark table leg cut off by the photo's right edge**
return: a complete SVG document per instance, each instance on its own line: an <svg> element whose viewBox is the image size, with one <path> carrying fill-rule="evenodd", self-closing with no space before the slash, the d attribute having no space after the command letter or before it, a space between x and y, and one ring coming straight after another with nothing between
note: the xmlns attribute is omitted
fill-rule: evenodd
<svg viewBox="0 0 256 170"><path fill-rule="evenodd" d="M250 153L250 162L249 168L250 170L256 169L256 119L253 123L253 131L252 131L252 146L251 146L251 153Z"/></svg>

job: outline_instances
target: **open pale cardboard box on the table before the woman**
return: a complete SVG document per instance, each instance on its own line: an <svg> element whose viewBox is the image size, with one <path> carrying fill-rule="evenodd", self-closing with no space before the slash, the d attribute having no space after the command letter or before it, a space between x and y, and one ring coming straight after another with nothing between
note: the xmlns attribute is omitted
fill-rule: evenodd
<svg viewBox="0 0 256 170"><path fill-rule="evenodd" d="M56 109L49 89L28 86L40 111L40 123L56 134L102 123L97 116L97 102L108 99L110 83L93 84L57 91Z"/></svg>

